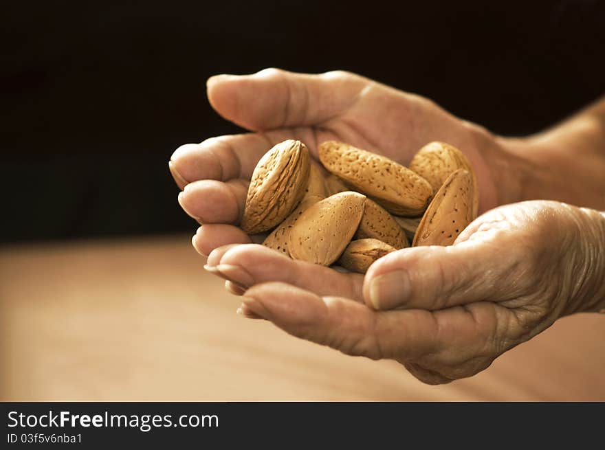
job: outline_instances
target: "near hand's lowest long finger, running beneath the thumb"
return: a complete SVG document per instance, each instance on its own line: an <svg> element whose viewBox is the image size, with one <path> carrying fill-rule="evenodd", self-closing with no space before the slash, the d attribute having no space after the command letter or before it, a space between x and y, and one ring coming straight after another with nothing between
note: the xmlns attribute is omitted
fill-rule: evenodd
<svg viewBox="0 0 605 450"><path fill-rule="evenodd" d="M372 359L417 359L439 350L439 324L423 310L372 311L344 297L320 297L291 284L259 284L243 303L287 333Z"/></svg>

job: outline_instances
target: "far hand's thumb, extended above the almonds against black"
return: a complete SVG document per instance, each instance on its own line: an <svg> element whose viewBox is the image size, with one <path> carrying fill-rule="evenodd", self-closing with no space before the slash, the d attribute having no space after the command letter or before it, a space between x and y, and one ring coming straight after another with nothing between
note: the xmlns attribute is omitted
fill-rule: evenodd
<svg viewBox="0 0 605 450"><path fill-rule="evenodd" d="M320 75L265 69L208 79L208 100L225 119L249 130L320 124L347 111L368 80L342 71Z"/></svg>

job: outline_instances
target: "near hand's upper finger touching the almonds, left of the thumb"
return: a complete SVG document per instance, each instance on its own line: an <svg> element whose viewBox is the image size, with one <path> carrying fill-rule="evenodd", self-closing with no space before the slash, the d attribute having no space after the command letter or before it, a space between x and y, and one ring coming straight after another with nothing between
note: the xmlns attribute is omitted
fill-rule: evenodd
<svg viewBox="0 0 605 450"><path fill-rule="evenodd" d="M363 275L340 273L329 267L292 260L263 245L231 245L212 251L208 267L216 275L251 287L269 281L299 286L318 295L338 295L363 302Z"/></svg>

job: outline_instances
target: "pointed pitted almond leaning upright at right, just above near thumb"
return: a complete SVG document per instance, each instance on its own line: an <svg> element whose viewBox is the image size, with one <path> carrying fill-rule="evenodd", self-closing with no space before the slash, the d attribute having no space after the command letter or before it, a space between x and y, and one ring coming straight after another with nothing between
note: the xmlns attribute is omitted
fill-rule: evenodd
<svg viewBox="0 0 605 450"><path fill-rule="evenodd" d="M435 194L418 225L412 247L452 245L473 221L473 180L467 170L453 172Z"/></svg>

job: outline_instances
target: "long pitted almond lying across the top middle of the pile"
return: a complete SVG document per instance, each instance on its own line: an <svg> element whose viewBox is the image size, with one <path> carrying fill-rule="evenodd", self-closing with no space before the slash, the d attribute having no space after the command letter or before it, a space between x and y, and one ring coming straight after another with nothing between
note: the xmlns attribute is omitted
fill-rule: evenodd
<svg viewBox="0 0 605 450"><path fill-rule="evenodd" d="M395 161L336 141L324 142L318 152L327 170L388 212L417 216L426 209L431 185Z"/></svg>

